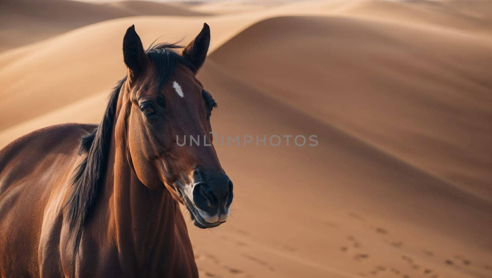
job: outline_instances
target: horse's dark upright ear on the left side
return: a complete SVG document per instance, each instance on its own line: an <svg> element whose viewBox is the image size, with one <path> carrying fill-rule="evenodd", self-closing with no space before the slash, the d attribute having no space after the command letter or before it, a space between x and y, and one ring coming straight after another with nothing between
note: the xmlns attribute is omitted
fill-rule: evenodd
<svg viewBox="0 0 492 278"><path fill-rule="evenodd" d="M126 30L123 37L123 59L130 72L130 79L138 77L149 61L134 25Z"/></svg>

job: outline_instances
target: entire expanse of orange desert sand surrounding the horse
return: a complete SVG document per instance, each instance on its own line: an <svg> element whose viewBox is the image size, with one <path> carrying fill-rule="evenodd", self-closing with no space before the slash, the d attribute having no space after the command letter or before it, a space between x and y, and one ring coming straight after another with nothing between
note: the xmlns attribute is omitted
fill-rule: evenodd
<svg viewBox="0 0 492 278"><path fill-rule="evenodd" d="M491 1L27 2L0 9L0 147L98 123L132 24L144 45L210 25L219 135L318 136L215 144L235 198L189 220L201 277L492 277Z"/></svg>

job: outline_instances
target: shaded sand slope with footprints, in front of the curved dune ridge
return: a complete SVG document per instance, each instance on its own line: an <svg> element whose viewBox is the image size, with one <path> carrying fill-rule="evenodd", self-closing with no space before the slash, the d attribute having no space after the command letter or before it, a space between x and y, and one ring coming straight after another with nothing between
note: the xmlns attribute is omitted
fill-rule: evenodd
<svg viewBox="0 0 492 278"><path fill-rule="evenodd" d="M444 277L473 277L487 273L485 269L476 268L462 270L459 274L461 270L448 269L443 262L446 253L453 260L451 254L460 254L460 250L467 248L465 246L474 246L477 256L469 259L476 260L477 265L485 264L486 260L478 261L489 256L487 248L479 250L490 240L484 223L491 209L489 202L463 194L446 182L285 105L266 95L265 91L246 85L245 79L230 72L209 61L200 74L216 98L227 103L217 110L214 118L213 124L218 126L215 130L219 134L319 133L324 140L317 149L237 147L231 150L231 147L218 146L223 163L228 165L226 170L244 185L238 186L237 194L242 197L238 198L240 201L234 214L249 220L229 226L231 230L220 235L231 238L230 241L245 240L247 235L253 235L255 242L260 241L265 249L283 249L280 254L268 250L259 257L275 264L272 267L282 272L280 277L302 276L296 270L314 273L317 277L332 277L336 273L330 272L331 268L327 266L335 265L335 269L350 274L353 263L359 260L361 273L369 275L377 266L384 266L386 271L381 274L389 275L390 266L400 272L411 269L407 261L402 260L403 255L412 257L413 264L418 265L417 270L406 272L410 277L422 276L424 268ZM219 114L227 116L222 118ZM247 115L247 121L244 115ZM246 164L235 163L237 157L244 159ZM245 169L248 169L247 173ZM261 197L256 194L259 192ZM338 218L341 215L353 221L343 221ZM446 219L449 215L453 217ZM470 215L475 217L470 218ZM282 231L281 235L263 233L263 229L256 227L258 223L262 227L275 227ZM234 231L235 225L240 225L241 231ZM476 230L471 232L473 229ZM430 230L432 235L426 232ZM241 232L246 232L246 237ZM307 238L301 239L299 235ZM333 235L336 236L332 238ZM419 240L415 235L425 235L426 239ZM220 244L221 239L213 240L215 236L206 238L212 241L207 245L210 248ZM453 239L444 240L448 237ZM227 260L234 248L232 245L225 250L222 259ZM428 257L422 249L431 250L436 257ZM347 254L342 255L344 252ZM295 259L286 259L285 253ZM364 254L370 259L362 259ZM237 260L242 261L241 254ZM298 260L307 260L314 265ZM286 269L287 266L290 268Z"/></svg>

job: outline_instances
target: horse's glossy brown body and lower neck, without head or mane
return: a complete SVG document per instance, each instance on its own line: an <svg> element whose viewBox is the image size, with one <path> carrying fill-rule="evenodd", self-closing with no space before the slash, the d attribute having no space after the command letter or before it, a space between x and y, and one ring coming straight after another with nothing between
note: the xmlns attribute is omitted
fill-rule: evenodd
<svg viewBox="0 0 492 278"><path fill-rule="evenodd" d="M114 158L74 260L62 211L81 160L78 139L95 127L43 128L0 151L0 276L198 277L177 202Z"/></svg>

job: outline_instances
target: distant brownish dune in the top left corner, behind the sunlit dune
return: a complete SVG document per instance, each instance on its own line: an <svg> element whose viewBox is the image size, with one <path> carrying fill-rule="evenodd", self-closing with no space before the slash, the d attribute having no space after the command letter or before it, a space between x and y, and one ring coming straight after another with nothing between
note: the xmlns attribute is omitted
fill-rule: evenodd
<svg viewBox="0 0 492 278"><path fill-rule="evenodd" d="M204 15L177 5L122 1L86 3L71 0L2 0L0 51L108 19L138 15Z"/></svg>

